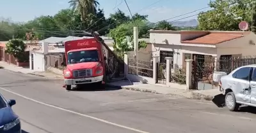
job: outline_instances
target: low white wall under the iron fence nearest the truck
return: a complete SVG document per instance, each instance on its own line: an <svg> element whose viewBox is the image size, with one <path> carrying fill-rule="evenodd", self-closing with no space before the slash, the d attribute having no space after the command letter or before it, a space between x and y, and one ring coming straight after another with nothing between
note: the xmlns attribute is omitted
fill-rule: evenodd
<svg viewBox="0 0 256 133"><path fill-rule="evenodd" d="M153 78L149 78L149 77L146 77L146 76L127 74L126 78L128 78L131 81L140 81L141 83L148 83L148 84L154 84L155 83Z"/></svg>

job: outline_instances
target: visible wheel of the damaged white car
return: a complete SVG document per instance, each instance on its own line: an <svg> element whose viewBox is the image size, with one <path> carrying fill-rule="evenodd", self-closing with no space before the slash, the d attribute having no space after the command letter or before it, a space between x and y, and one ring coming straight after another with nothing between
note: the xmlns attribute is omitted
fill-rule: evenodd
<svg viewBox="0 0 256 133"><path fill-rule="evenodd" d="M236 97L234 92L228 92L225 97L225 104L230 111L237 111L239 104L236 103Z"/></svg>

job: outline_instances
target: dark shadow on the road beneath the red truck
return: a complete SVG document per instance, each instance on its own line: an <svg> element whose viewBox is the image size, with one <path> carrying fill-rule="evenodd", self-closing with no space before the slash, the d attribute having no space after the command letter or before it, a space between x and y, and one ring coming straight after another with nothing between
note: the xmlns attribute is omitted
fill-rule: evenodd
<svg viewBox="0 0 256 133"><path fill-rule="evenodd" d="M83 85L79 87L72 87L71 91L78 91L78 92L96 92L96 91L114 91L114 90L120 90L121 87L108 87L105 85L104 87L99 87L99 85L95 84L88 84Z"/></svg>

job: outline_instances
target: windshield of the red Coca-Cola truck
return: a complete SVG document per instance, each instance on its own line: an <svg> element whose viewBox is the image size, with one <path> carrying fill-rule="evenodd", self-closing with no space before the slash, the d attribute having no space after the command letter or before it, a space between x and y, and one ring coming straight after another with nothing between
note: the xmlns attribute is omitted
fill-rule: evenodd
<svg viewBox="0 0 256 133"><path fill-rule="evenodd" d="M84 50L68 53L68 64L76 64L81 62L99 62L99 54L97 50Z"/></svg>

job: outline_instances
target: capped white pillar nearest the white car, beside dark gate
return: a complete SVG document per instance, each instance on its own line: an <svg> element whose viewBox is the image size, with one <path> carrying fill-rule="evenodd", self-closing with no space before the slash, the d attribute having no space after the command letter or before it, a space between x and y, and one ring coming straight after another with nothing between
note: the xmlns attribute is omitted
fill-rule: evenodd
<svg viewBox="0 0 256 133"><path fill-rule="evenodd" d="M192 86L192 59L186 60L186 86L187 90Z"/></svg>

